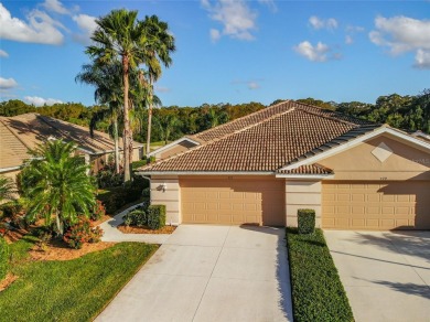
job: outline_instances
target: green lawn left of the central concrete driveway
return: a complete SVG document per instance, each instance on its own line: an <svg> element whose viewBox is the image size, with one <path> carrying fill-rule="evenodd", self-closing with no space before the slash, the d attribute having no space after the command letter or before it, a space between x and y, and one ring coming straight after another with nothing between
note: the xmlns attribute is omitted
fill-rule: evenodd
<svg viewBox="0 0 430 322"><path fill-rule="evenodd" d="M32 261L34 239L11 245L12 272L0 292L0 321L90 321L155 251L157 245L120 243L67 261Z"/></svg>

